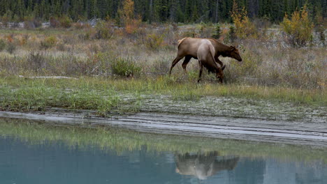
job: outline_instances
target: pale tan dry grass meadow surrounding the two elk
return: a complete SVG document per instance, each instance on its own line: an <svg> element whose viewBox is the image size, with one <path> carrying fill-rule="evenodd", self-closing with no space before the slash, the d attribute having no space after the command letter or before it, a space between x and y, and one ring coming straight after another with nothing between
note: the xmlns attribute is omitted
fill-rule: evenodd
<svg viewBox="0 0 327 184"><path fill-rule="evenodd" d="M164 25L155 29L143 25L127 35L122 29L106 26L113 36L99 38L99 29L103 28L92 27L2 30L0 39L6 45L14 45L15 49L0 52L0 75L107 77L115 75L112 63L119 58L142 68L139 75L133 77L159 77L166 75L175 58L178 39L184 36L210 37L215 30L214 25L203 24L180 28ZM222 25L222 29L227 26ZM228 32L224 30L221 38L228 38ZM225 70L227 83L325 89L325 47L291 48L278 29L263 32L257 39L237 40L242 63L221 58L228 65ZM196 62L191 61L187 67L189 75L182 73L180 64L174 68L173 75L196 82ZM213 78L206 75L204 80L215 82Z"/></svg>

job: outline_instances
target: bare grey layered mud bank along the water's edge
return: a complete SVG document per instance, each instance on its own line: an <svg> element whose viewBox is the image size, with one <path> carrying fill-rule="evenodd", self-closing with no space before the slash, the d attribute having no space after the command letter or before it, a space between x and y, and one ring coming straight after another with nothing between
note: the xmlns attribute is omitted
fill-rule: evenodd
<svg viewBox="0 0 327 184"><path fill-rule="evenodd" d="M109 125L140 132L327 147L325 122L306 123L304 121L273 121L259 118L153 112L112 114L110 118L103 118L95 116L92 111L71 112L54 108L42 113L0 112L0 117L27 118L56 125Z"/></svg>

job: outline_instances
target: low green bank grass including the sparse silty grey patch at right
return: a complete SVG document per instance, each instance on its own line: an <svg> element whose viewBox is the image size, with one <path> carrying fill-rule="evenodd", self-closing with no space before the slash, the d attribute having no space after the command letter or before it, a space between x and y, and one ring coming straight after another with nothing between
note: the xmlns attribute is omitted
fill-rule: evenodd
<svg viewBox="0 0 327 184"><path fill-rule="evenodd" d="M100 116L110 116L112 112L124 113L143 110L161 112L163 107L174 109L178 105L180 108L188 105L189 107L201 107L201 109L208 111L206 114L211 113L211 115L217 115L219 109L222 112L234 109L233 115L227 113L228 116L241 117L245 116L244 113L248 114L251 109L258 110L258 108L252 107L255 106L260 107L260 114L264 116L263 118L274 118L274 116L279 116L280 112L284 112L289 114L289 120L293 120L307 116L308 110L324 111L327 104L326 93L319 89L289 89L236 84L194 84L188 81L180 82L173 77L154 79L112 79L106 77L29 79L6 77L0 79L0 86L0 109L23 112L45 111L47 107L61 107L72 110L92 109L96 110ZM221 102L215 100L216 98L221 99ZM236 99L227 100L230 98ZM210 99L215 100L215 102L211 102ZM161 107L152 108L151 103L156 103L163 109ZM244 108L240 109L240 107ZM217 110L212 112L210 108ZM192 112L188 108L180 109L179 113L198 114L200 112ZM321 116L319 114L314 116ZM311 114L309 115L311 116Z"/></svg>

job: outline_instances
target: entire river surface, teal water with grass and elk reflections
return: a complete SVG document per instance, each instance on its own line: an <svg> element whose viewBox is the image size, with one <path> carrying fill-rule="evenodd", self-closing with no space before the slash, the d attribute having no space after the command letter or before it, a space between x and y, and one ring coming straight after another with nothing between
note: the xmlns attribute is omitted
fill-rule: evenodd
<svg viewBox="0 0 327 184"><path fill-rule="evenodd" d="M324 153L324 148L53 128L0 119L1 184L322 184L327 183Z"/></svg>

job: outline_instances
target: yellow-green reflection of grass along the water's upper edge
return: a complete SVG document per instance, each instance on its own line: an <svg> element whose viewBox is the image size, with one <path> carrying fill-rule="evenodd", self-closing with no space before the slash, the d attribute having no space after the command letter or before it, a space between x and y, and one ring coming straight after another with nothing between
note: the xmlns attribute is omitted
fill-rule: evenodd
<svg viewBox="0 0 327 184"><path fill-rule="evenodd" d="M240 155L248 158L277 158L278 160L296 160L310 162L321 160L327 163L326 148L308 146L290 146L278 144L251 143L224 139L201 137L180 137L144 134L117 128L101 127L62 127L36 123L35 121L0 118L0 136L17 137L29 141L29 144L52 144L64 141L69 148L84 149L96 146L103 150L123 151L173 151L175 153L198 153L218 151L219 155Z"/></svg>

